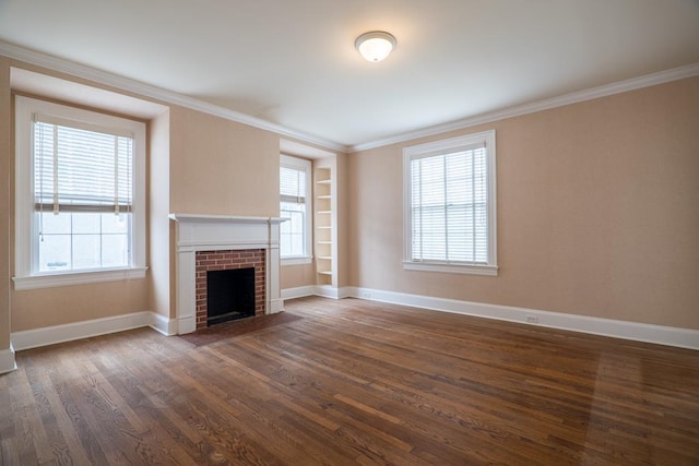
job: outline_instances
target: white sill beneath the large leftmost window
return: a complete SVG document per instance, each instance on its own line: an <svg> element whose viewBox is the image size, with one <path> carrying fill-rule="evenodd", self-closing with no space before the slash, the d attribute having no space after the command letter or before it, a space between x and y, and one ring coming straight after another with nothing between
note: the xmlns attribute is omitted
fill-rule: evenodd
<svg viewBox="0 0 699 466"><path fill-rule="evenodd" d="M87 285L145 278L147 267L119 268L97 272L70 272L51 275L12 277L15 290Z"/></svg>

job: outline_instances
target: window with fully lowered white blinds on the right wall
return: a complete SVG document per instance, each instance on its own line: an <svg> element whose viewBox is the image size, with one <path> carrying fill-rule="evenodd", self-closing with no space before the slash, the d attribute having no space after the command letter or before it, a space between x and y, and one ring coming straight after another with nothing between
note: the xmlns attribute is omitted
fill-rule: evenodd
<svg viewBox="0 0 699 466"><path fill-rule="evenodd" d="M404 268L497 275L495 131L406 147Z"/></svg>

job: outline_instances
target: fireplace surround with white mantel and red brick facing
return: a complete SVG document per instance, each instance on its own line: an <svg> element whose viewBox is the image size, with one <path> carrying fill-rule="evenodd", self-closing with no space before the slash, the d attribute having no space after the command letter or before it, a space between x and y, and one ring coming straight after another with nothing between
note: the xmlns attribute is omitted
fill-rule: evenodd
<svg viewBox="0 0 699 466"><path fill-rule="evenodd" d="M170 214L169 218L176 224L177 334L191 333L206 325L205 285L202 284L202 276L205 282L206 270L253 266L254 314L270 314L282 310L282 218L189 214Z"/></svg>

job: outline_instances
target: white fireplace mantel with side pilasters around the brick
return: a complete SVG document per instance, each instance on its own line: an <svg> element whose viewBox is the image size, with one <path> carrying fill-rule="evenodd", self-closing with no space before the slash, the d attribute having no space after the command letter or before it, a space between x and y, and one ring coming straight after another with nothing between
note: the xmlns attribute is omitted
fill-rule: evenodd
<svg viewBox="0 0 699 466"><path fill-rule="evenodd" d="M197 328L197 251L264 249L264 313L282 310L284 301L280 290L280 224L286 218L192 214L170 214L169 218L177 224L175 268L178 334L191 333Z"/></svg>

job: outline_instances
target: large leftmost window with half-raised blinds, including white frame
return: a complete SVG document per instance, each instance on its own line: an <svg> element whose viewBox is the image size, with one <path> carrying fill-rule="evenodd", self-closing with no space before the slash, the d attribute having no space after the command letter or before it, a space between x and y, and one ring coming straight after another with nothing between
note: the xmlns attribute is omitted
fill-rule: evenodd
<svg viewBox="0 0 699 466"><path fill-rule="evenodd" d="M16 97L15 288L142 277L145 124Z"/></svg>

